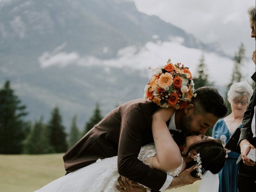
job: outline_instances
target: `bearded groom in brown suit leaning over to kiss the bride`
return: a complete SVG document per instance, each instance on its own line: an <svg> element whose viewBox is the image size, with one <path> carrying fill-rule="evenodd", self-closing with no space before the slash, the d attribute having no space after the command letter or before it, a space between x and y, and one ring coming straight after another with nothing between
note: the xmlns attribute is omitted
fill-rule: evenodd
<svg viewBox="0 0 256 192"><path fill-rule="evenodd" d="M194 94L196 98L190 104L176 111L169 129L182 130L186 135L205 134L226 114L226 105L216 89L202 87ZM152 190L164 191L197 180L189 172L172 178L138 160L141 146L154 142L151 116L158 108L154 102L137 99L112 110L64 154L67 173L92 164L98 158L118 156L119 174Z"/></svg>

